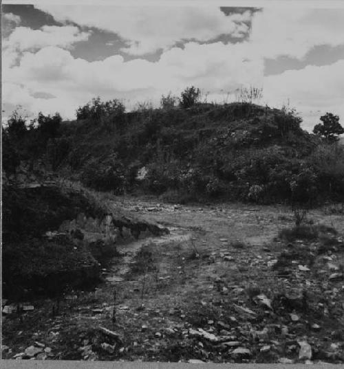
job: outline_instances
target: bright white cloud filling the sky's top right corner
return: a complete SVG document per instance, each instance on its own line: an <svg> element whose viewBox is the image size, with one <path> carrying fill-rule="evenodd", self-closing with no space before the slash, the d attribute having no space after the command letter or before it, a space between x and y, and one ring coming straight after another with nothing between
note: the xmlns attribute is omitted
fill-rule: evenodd
<svg viewBox="0 0 344 369"><path fill-rule="evenodd" d="M252 17L250 51L303 58L316 45L344 45L344 9L264 8Z"/></svg>

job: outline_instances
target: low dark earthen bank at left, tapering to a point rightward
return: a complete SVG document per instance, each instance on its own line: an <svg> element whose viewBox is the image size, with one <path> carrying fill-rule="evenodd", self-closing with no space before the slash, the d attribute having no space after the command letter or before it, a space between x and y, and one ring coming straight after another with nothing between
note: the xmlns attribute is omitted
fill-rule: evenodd
<svg viewBox="0 0 344 369"><path fill-rule="evenodd" d="M116 244L168 232L123 216L86 191L59 186L6 186L3 205L3 292L54 295L100 278ZM116 214L117 212L117 214ZM30 260L30 261L28 261Z"/></svg>

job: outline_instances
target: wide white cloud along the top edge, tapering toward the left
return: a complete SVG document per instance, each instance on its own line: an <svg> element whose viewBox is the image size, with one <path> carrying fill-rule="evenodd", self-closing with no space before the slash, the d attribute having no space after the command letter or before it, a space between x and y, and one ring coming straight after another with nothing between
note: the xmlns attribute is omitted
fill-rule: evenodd
<svg viewBox="0 0 344 369"><path fill-rule="evenodd" d="M219 8L166 6L35 5L57 21L74 21L120 35L133 55L168 49L182 40L209 41L221 34L242 37L250 12L226 16ZM109 9L109 11L107 11Z"/></svg>

